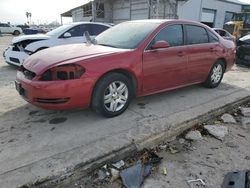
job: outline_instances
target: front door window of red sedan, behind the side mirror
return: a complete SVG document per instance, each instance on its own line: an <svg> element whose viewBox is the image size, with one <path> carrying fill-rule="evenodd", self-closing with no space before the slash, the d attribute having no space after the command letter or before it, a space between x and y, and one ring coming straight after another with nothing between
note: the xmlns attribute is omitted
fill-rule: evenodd
<svg viewBox="0 0 250 188"><path fill-rule="evenodd" d="M151 46L154 43L161 40L165 40L166 42L168 42L170 47L183 45L182 25L170 25L163 28L151 41L149 49L151 49Z"/></svg>

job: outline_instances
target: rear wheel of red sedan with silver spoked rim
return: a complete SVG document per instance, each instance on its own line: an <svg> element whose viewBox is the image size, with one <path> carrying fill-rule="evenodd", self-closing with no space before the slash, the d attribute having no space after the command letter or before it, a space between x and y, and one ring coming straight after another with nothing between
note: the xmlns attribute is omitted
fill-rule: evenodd
<svg viewBox="0 0 250 188"><path fill-rule="evenodd" d="M207 80L203 85L207 88L216 88L220 85L225 73L225 64L223 61L217 61L211 68Z"/></svg>

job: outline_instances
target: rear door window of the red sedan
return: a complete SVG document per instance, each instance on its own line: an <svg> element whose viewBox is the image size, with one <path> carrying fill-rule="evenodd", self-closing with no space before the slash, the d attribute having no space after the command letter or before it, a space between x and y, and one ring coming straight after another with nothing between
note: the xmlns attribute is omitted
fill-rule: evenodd
<svg viewBox="0 0 250 188"><path fill-rule="evenodd" d="M187 44L208 43L208 35L205 28L195 25L186 25Z"/></svg>

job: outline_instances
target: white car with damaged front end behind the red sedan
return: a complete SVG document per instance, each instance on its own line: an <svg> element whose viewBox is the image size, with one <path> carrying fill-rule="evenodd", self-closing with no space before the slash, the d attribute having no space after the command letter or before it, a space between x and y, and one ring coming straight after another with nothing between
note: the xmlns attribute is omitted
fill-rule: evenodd
<svg viewBox="0 0 250 188"><path fill-rule="evenodd" d="M77 22L62 25L46 34L15 37L11 45L5 49L3 56L6 63L21 66L27 57L40 50L64 44L84 43L85 31L88 31L93 39L110 27L111 25L103 23Z"/></svg>

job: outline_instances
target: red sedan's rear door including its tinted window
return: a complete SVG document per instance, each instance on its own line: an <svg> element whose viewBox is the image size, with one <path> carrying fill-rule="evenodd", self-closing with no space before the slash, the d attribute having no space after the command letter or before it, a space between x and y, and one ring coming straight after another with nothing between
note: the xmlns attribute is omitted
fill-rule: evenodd
<svg viewBox="0 0 250 188"><path fill-rule="evenodd" d="M218 38L206 28L197 25L185 25L188 47L188 79L190 83L206 80L210 68L216 62Z"/></svg>

